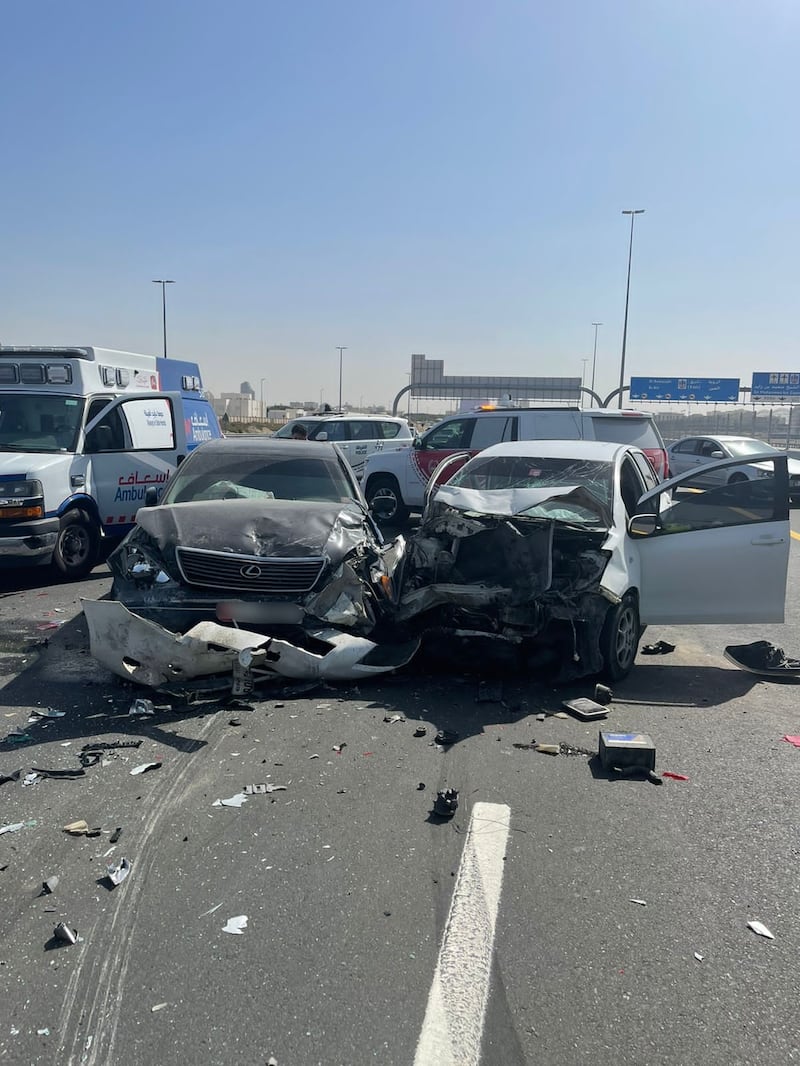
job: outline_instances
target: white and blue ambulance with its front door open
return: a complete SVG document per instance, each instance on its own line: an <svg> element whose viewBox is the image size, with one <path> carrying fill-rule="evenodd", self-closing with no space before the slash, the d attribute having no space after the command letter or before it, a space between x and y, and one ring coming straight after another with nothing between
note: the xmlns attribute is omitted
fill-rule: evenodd
<svg viewBox="0 0 800 1066"><path fill-rule="evenodd" d="M0 567L84 577L192 449L222 436L194 362L0 345Z"/></svg>

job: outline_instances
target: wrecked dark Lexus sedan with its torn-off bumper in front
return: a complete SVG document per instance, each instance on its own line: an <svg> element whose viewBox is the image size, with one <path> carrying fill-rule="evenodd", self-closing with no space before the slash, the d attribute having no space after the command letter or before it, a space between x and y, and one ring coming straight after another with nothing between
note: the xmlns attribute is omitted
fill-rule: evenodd
<svg viewBox="0 0 800 1066"><path fill-rule="evenodd" d="M92 653L151 685L219 673L246 648L290 677L391 669L415 650L377 640L404 556L334 445L208 441L110 555L111 602L84 601Z"/></svg>

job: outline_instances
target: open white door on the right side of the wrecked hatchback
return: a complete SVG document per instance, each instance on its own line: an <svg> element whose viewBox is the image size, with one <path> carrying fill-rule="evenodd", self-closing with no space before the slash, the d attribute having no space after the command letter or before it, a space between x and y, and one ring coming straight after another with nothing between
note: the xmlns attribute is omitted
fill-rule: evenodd
<svg viewBox="0 0 800 1066"><path fill-rule="evenodd" d="M764 475L689 489L691 471L645 494L628 523L640 564L642 623L783 621L789 558L785 455L754 456ZM741 465L729 459L719 466Z"/></svg>

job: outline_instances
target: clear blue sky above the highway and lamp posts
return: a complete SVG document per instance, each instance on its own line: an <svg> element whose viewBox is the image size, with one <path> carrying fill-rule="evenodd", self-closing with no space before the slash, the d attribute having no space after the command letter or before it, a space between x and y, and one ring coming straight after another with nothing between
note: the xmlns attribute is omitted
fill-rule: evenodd
<svg viewBox="0 0 800 1066"><path fill-rule="evenodd" d="M215 392L800 370L795 0L3 7L0 341Z"/></svg>

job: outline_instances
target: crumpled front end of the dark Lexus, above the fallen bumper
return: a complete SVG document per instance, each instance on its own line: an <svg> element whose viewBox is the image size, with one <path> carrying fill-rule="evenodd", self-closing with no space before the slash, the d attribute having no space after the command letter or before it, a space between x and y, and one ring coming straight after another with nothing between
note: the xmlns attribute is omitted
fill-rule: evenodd
<svg viewBox="0 0 800 1066"><path fill-rule="evenodd" d="M140 511L109 566L112 597L174 631L214 619L366 636L397 598L404 555L356 504L209 500Z"/></svg>

